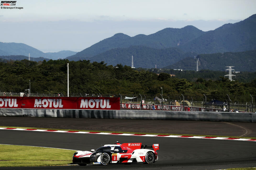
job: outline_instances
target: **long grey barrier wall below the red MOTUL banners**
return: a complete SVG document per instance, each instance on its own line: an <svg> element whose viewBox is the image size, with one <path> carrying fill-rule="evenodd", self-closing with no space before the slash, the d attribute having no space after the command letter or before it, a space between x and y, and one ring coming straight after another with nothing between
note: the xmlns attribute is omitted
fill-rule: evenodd
<svg viewBox="0 0 256 170"><path fill-rule="evenodd" d="M0 116L256 122L256 113L229 113L229 112L2 108L0 109Z"/></svg>

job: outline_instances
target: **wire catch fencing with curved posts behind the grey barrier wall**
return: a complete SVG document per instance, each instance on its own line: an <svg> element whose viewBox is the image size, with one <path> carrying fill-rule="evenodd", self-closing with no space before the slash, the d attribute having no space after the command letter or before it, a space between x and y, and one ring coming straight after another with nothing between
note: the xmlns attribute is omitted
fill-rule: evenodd
<svg viewBox="0 0 256 170"><path fill-rule="evenodd" d="M0 96L22 97L67 97L66 93L36 92L13 93L0 92ZM69 97L81 98L120 98L120 110L197 111L197 112L250 112L255 113L256 95L210 95L198 96L170 94L86 94L69 93ZM215 103L214 101L218 101ZM189 108L189 109L188 109Z"/></svg>

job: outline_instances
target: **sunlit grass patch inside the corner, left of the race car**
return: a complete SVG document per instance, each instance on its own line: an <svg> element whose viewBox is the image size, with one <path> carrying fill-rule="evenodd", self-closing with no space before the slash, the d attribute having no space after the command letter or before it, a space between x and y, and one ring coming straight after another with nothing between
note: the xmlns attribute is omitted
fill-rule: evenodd
<svg viewBox="0 0 256 170"><path fill-rule="evenodd" d="M0 145L0 167L61 166L72 162L74 150Z"/></svg>

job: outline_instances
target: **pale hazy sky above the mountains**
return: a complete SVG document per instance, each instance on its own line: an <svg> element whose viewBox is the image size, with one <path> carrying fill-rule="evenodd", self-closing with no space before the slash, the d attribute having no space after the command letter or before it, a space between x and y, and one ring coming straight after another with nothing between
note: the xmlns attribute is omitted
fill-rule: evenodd
<svg viewBox="0 0 256 170"><path fill-rule="evenodd" d="M17 0L1 7L23 9L0 9L0 41L43 52L81 51L116 33L187 25L209 31L256 14L256 0Z"/></svg>

